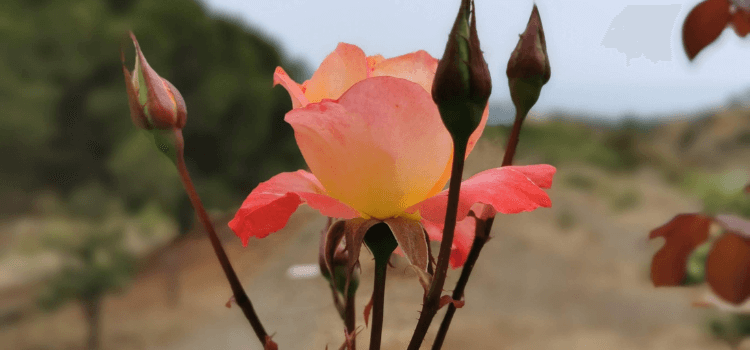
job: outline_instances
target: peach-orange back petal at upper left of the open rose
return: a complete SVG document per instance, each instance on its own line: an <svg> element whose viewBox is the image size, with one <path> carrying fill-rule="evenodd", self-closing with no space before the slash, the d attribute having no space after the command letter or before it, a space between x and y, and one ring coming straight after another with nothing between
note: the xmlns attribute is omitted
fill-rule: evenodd
<svg viewBox="0 0 750 350"><path fill-rule="evenodd" d="M312 78L304 83L305 96L310 102L324 98L337 99L360 80L367 78L367 58L355 45L339 43L323 60Z"/></svg>

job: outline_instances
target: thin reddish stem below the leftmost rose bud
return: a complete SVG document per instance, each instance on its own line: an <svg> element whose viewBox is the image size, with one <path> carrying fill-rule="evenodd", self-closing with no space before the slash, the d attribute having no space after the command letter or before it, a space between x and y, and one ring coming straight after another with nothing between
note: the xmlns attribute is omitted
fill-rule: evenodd
<svg viewBox="0 0 750 350"><path fill-rule="evenodd" d="M242 287L239 278L237 278L237 273L234 272L232 263L229 262L227 253L221 246L219 236L216 235L216 230L214 230L214 226L211 223L211 220L208 218L206 209L203 207L203 203L201 202L200 197L198 197L198 192L195 190L193 181L190 179L190 174L188 173L187 167L185 166L185 142L182 138L182 131L179 129L175 129L174 137L175 147L177 151L176 165L177 170L180 173L182 184L185 186L185 192L187 192L187 195L190 198L190 203L193 204L193 208L195 208L195 212L196 214L198 214L198 218L203 224L203 227L208 232L211 246L214 248L214 253L216 253L216 257L219 259L219 264L221 264L221 268L222 270L224 270L224 274L229 281L229 286L232 288L235 302L240 307L240 309L242 309L242 312L245 314L247 320L250 321L250 325L253 327L253 331L255 331L255 335L260 340L260 343L265 346L268 338L268 333L266 333L266 330L260 323L258 315L255 314L253 304L252 302L250 302L250 298L247 296L247 293L245 293L245 289Z"/></svg>

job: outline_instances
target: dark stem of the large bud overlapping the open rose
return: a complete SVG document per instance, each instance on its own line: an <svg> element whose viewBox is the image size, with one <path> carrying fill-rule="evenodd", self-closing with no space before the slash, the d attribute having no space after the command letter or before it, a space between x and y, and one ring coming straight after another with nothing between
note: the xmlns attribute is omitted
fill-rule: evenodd
<svg viewBox="0 0 750 350"><path fill-rule="evenodd" d="M448 273L448 260L450 259L453 234L456 229L456 213L458 211L458 196L461 192L461 176L464 169L466 144L466 140L453 140L453 166L450 186L448 187L448 206L445 212L445 225L443 225L443 239L440 242L435 275L425 296L422 313L419 315L419 321L417 321L417 327L414 329L414 334L409 342L408 350L419 349L425 335L427 335L432 319L440 308L440 296L443 292L445 276Z"/></svg>

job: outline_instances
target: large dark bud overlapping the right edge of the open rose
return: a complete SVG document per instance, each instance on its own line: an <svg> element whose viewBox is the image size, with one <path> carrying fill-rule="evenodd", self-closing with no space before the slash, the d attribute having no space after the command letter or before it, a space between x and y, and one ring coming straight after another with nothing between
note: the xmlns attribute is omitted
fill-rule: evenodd
<svg viewBox="0 0 750 350"><path fill-rule="evenodd" d="M432 99L454 138L468 140L479 126L492 80L479 48L474 1L462 0L432 83Z"/></svg>

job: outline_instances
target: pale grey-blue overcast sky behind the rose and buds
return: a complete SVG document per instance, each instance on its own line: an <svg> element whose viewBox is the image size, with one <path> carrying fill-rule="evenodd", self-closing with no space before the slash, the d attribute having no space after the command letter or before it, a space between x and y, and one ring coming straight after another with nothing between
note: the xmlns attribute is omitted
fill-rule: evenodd
<svg viewBox="0 0 750 350"><path fill-rule="evenodd" d="M365 54L426 50L440 58L460 0L203 0L317 68L338 42ZM653 116L726 104L750 89L750 37L727 28L689 63L682 23L698 0L538 0L552 78L537 112ZM494 101L509 100L505 67L531 0L476 0L477 27Z"/></svg>

